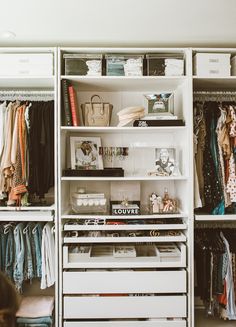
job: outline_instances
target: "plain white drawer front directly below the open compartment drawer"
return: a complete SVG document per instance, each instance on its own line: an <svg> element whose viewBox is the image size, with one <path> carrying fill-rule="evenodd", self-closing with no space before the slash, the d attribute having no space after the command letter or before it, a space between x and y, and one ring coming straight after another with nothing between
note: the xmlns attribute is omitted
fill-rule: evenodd
<svg viewBox="0 0 236 327"><path fill-rule="evenodd" d="M186 271L64 272L64 294L184 293Z"/></svg>

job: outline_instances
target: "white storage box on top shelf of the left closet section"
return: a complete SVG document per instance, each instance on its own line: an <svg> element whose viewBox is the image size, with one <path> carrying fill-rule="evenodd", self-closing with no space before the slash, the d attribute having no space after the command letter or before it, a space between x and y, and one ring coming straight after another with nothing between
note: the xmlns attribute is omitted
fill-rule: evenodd
<svg viewBox="0 0 236 327"><path fill-rule="evenodd" d="M0 76L52 76L52 53L1 53Z"/></svg>

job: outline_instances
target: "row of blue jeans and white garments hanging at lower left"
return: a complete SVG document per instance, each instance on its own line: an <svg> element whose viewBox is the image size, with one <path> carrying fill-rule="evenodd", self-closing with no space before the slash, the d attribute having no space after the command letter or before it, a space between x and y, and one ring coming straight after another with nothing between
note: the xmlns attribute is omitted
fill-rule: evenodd
<svg viewBox="0 0 236 327"><path fill-rule="evenodd" d="M0 223L0 270L21 292L24 281L55 283L55 240L52 223Z"/></svg>

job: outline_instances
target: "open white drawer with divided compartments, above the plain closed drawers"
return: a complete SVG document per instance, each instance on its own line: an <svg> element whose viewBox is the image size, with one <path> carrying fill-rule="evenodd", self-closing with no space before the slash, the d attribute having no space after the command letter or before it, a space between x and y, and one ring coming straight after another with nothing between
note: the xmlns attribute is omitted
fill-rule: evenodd
<svg viewBox="0 0 236 327"><path fill-rule="evenodd" d="M167 243L168 244L168 243ZM63 267L64 268L179 268L186 267L186 245L177 243L180 249L178 259L169 259L168 261L161 260L156 252L149 256L137 255L133 258L120 257L116 258L112 252L106 256L87 255L81 256L76 253L71 253L68 245L63 246ZM95 245L93 245L95 246ZM96 245L100 246L100 245ZM144 245L139 245L138 248L145 249ZM140 252L139 250L138 252ZM93 252L93 251L92 251ZM150 252L150 251L149 251Z"/></svg>

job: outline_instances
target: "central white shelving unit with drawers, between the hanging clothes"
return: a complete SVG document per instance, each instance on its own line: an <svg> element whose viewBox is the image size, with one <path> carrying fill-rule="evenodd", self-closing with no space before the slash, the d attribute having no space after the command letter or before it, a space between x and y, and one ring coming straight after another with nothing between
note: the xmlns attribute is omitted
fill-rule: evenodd
<svg viewBox="0 0 236 327"><path fill-rule="evenodd" d="M64 53L162 53L181 55L185 60L185 75L179 77L65 75ZM163 327L191 326L191 316L189 315L192 304L190 291L192 282L192 267L190 265L192 260L192 232L189 228L191 228L191 221L193 220L193 178L192 158L190 156L190 153L192 153L192 113L189 110L192 106L191 51L189 49L164 48L59 48L58 62L58 84L61 85L61 81L67 79L74 86L78 95L78 107L89 101L93 94L99 94L106 102L113 104L110 127L63 126L62 121L58 127L59 220L61 230L59 266L60 289L62 290L60 293L60 326L87 327L99 324L110 327L134 325L140 327L157 325ZM185 121L185 126L117 127L116 113L119 110L127 106L143 105L144 94L158 92L174 93L175 113ZM59 108L62 108L62 90L60 88L58 99ZM123 166L125 177L63 176L63 170L70 167L70 136L100 137L102 146L129 147L129 158L114 164L114 166L119 166L118 164ZM145 150L145 147L151 149L149 153ZM148 176L148 171L151 171L154 163L154 158L150 153L155 148L163 147L178 150L180 176ZM140 156L140 153L143 153L143 156ZM105 167L109 166L105 159L103 161ZM121 185L139 182L141 189L140 201L141 205L144 206L148 205L148 199L152 192L163 194L164 188L167 187L170 196L178 198L180 212L166 215L152 215L141 212L138 216L113 216L109 213L105 215L99 215L98 213L81 215L71 212L71 196L78 187L86 188L88 191L104 193L106 198L110 199L111 183L115 182L122 183ZM145 223L116 226L83 224L84 220L91 218L103 218L107 221L118 220L120 222L125 222L127 219L137 219L144 220ZM149 222L149 220L156 219L166 219L166 223ZM176 219L179 220L178 223L176 223ZM72 221L73 224L70 223ZM128 233L139 231L146 233L150 230L159 230L164 233L172 230L176 231L176 234L173 236L165 234L165 236L159 235L156 237L147 235L111 237L104 235L104 233L108 232ZM100 237L91 237L84 234L88 232L100 232L102 234ZM75 237L74 234L70 236L68 233L78 233L78 235L76 234ZM150 254L149 256L145 254L148 244L158 246L158 244L170 244L172 242L178 246L180 251L180 257L176 261L163 262L159 260L156 254ZM97 256L97 247L98 249L104 246L113 247L119 243L138 246L138 256L135 258L116 258L112 254L107 256L98 254ZM92 246L91 256L87 258L73 256L71 249L81 244ZM150 274L153 274L155 283L160 283L161 287L147 287L146 283ZM84 280L80 279L82 276L85 278ZM94 282L91 287L90 281L92 279L90 278L92 276ZM142 276L141 279L140 276ZM155 279L155 276L157 279ZM132 281L133 286L131 284L128 286L129 283L126 282L126 279ZM124 281L124 284L122 281ZM170 282L173 282L176 286L169 287ZM112 283L115 287L112 287ZM180 288L177 287L178 283L180 283ZM119 287L122 284L123 286ZM110 295L104 298L102 293ZM124 296L121 297L121 293ZM136 297L132 295L137 293L150 296L147 297L143 294L136 301ZM97 296L91 297L88 294ZM171 312L168 308L171 308ZM173 308L175 309L173 310ZM154 318L156 322L151 321ZM168 320L167 318L173 319ZM97 319L97 321L93 319Z"/></svg>

